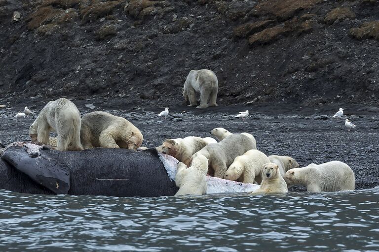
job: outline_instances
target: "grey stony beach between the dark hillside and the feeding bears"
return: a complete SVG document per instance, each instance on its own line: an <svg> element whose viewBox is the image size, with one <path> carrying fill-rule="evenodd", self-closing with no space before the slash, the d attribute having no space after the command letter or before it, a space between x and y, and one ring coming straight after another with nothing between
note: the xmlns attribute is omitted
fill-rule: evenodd
<svg viewBox="0 0 379 252"><path fill-rule="evenodd" d="M126 106L120 100L74 100L82 115L105 110L122 116L140 128L144 146L155 147L166 138L190 135L210 136L209 130L225 127L230 132L249 132L257 139L257 147L268 155L288 155L301 166L331 160L346 162L355 172L356 189L379 186L379 108L336 104L316 108L297 104L275 103L261 106L228 106L198 110L185 106L170 108L167 119L157 117L163 107ZM46 101L35 101L30 107L38 112ZM89 109L86 104L92 104ZM346 117L357 125L347 132L344 119L331 119L342 106ZM0 139L3 143L28 141L29 125L34 119L16 121L13 116L23 109L9 104L0 109ZM235 120L238 111L249 109L246 121ZM301 188L296 188L301 189Z"/></svg>

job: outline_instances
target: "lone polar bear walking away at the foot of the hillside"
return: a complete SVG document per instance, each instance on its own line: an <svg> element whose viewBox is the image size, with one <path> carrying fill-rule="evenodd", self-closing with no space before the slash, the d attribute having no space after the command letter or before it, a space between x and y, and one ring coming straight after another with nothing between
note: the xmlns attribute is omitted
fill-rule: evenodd
<svg viewBox="0 0 379 252"><path fill-rule="evenodd" d="M200 93L200 105L196 108L218 106L216 103L219 82L216 74L208 69L190 70L182 90L184 100L189 106L196 106L196 93ZM208 105L209 100L209 105Z"/></svg>

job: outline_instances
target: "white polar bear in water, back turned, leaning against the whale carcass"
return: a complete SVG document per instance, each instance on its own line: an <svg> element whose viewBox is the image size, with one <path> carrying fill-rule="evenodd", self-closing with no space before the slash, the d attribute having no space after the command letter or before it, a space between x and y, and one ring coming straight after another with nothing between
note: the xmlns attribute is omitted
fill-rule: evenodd
<svg viewBox="0 0 379 252"><path fill-rule="evenodd" d="M208 159L202 155L193 158L191 166L180 162L175 176L175 183L179 187L175 196L184 194L201 195L207 191Z"/></svg>

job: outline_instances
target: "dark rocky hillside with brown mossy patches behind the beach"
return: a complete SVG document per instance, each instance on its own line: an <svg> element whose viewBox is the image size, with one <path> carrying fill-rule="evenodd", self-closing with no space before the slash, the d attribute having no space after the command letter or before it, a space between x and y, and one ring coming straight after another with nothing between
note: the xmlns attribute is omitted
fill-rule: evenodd
<svg viewBox="0 0 379 252"><path fill-rule="evenodd" d="M0 98L379 102L379 0L0 0Z"/></svg>

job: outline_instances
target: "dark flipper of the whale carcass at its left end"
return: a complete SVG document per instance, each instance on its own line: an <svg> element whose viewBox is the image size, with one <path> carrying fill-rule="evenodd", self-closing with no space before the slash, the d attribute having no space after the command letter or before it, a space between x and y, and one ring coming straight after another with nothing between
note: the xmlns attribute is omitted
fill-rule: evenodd
<svg viewBox="0 0 379 252"><path fill-rule="evenodd" d="M9 147L1 159L18 171L28 175L37 184L57 194L67 194L70 189L70 170L58 159L30 155L19 147Z"/></svg>

